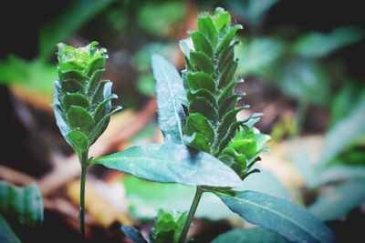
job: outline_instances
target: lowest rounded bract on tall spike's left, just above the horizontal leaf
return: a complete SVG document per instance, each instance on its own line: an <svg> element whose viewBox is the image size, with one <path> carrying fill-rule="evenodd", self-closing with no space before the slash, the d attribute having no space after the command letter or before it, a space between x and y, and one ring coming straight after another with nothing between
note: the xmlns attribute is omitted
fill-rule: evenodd
<svg viewBox="0 0 365 243"><path fill-rule="evenodd" d="M192 113L187 117L186 129L187 135L197 132L208 138L211 143L214 141L214 129L208 119L200 113Z"/></svg>

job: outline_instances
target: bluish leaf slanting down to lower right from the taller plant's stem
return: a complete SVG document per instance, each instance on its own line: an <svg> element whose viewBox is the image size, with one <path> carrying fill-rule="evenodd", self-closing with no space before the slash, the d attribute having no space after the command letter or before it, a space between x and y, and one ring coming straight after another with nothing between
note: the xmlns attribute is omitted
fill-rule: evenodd
<svg viewBox="0 0 365 243"><path fill-rule="evenodd" d="M215 192L224 204L250 223L276 231L292 242L333 242L332 232L308 210L255 191Z"/></svg>

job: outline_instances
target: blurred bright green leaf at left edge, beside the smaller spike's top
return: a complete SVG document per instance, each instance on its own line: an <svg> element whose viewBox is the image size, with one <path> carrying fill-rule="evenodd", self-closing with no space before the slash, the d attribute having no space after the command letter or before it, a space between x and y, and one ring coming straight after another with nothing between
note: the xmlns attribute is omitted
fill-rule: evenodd
<svg viewBox="0 0 365 243"><path fill-rule="evenodd" d="M0 84L17 84L29 91L52 94L56 74L55 66L47 65L40 59L26 61L9 56L0 61Z"/></svg>

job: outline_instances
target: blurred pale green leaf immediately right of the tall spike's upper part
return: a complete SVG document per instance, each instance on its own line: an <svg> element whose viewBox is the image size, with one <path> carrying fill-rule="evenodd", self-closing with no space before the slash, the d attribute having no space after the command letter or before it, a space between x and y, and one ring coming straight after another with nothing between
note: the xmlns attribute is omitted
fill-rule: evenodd
<svg viewBox="0 0 365 243"><path fill-rule="evenodd" d="M235 56L240 59L237 75L264 75L267 68L283 55L285 45L270 37L255 37L250 41L241 40L235 47Z"/></svg>

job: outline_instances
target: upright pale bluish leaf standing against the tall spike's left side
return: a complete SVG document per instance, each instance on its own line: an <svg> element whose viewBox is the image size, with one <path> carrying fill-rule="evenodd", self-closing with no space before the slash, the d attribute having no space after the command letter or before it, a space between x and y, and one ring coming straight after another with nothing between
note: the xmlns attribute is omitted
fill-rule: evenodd
<svg viewBox="0 0 365 243"><path fill-rule="evenodd" d="M162 56L152 56L152 69L156 79L159 125L164 140L183 144L182 104L187 104L183 81L175 67Z"/></svg>

